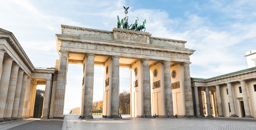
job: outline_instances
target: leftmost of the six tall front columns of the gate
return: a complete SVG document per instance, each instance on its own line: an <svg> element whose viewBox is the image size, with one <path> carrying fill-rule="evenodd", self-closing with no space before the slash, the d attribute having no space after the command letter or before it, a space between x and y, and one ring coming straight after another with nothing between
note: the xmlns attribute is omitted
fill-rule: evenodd
<svg viewBox="0 0 256 130"><path fill-rule="evenodd" d="M67 80L68 52L60 52L58 77L55 94L55 110L53 118L63 118L65 89Z"/></svg>

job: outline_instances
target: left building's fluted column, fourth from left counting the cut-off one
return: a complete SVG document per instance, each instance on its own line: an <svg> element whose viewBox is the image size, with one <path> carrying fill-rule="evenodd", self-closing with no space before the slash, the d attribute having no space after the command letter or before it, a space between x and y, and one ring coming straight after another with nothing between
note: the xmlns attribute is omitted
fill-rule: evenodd
<svg viewBox="0 0 256 130"><path fill-rule="evenodd" d="M19 72L18 72L17 86L16 86L16 90L15 90L15 97L14 97L13 109L12 109L12 114L11 114L12 120L18 119L17 115L18 115L18 109L19 109L19 101L20 101L23 73L24 73L23 70L19 70Z"/></svg>

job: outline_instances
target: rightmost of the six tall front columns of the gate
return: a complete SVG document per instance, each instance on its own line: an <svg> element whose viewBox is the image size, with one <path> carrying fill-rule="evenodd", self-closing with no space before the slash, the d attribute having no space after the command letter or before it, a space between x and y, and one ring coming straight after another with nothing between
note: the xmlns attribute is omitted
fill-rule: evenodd
<svg viewBox="0 0 256 130"><path fill-rule="evenodd" d="M190 63L183 63L184 66L184 85L185 85L185 101L186 101L186 117L194 117L194 106L190 79Z"/></svg>

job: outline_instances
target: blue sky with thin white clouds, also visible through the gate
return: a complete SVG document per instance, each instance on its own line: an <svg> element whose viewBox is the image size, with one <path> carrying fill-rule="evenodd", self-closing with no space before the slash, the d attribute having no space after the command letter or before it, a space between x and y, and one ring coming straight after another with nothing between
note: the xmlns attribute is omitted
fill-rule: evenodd
<svg viewBox="0 0 256 130"><path fill-rule="evenodd" d="M111 31L117 15L147 20L153 37L185 40L191 77L210 78L247 68L256 49L255 0L0 0L0 28L11 31L35 67L55 67L55 34L61 24ZM82 65L69 64L65 109L80 106ZM102 66L94 67L93 101L102 100ZM120 68L120 92L130 89L130 70ZM44 89L44 85L38 85Z"/></svg>

